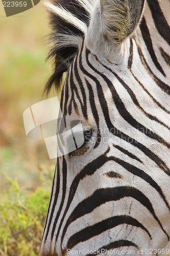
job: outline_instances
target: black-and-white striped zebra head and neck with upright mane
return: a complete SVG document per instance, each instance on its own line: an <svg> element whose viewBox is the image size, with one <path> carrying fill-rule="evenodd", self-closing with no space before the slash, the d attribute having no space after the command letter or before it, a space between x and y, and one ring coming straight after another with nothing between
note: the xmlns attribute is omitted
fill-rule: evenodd
<svg viewBox="0 0 170 256"><path fill-rule="evenodd" d="M57 158L40 255L166 255L170 2L45 5L54 61L45 91L61 91L59 115L81 120L84 143Z"/></svg>

